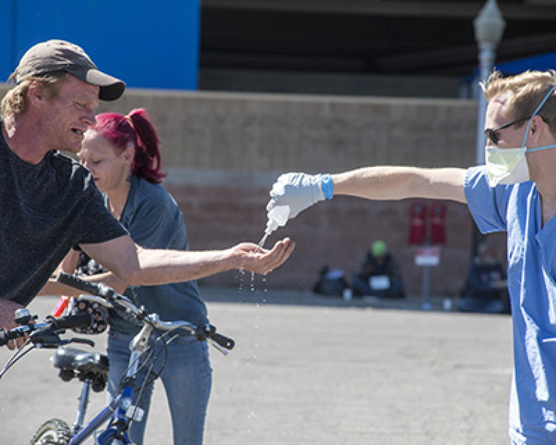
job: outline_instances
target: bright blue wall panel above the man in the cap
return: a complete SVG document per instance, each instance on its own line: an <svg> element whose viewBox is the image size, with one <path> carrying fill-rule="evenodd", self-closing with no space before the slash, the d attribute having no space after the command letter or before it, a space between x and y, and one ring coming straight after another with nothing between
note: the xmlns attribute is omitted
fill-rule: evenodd
<svg viewBox="0 0 556 445"><path fill-rule="evenodd" d="M32 45L62 38L128 87L195 90L200 0L1 0L0 81Z"/></svg>

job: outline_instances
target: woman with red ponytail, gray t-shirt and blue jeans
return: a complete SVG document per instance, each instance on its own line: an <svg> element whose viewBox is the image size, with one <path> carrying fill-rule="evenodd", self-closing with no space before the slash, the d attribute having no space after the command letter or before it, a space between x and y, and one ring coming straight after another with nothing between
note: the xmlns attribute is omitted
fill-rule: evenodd
<svg viewBox="0 0 556 445"><path fill-rule="evenodd" d="M132 110L127 116L102 113L96 119L96 125L89 127L85 133L78 156L91 171L112 215L120 220L137 245L151 249L187 250L182 213L173 197L160 185L165 177L161 172L160 144L145 110ZM122 283L118 284L119 280L113 274L106 274L102 281L117 290L123 289ZM188 320L201 325L209 322L195 281L136 286L127 288L125 295L137 306L145 306L147 313L158 313L163 320ZM118 394L120 380L129 364L128 345L139 329L140 326L133 319L126 318L125 314L110 313L110 399ZM173 340L168 345L160 377L171 411L173 443L202 444L212 383L206 342L199 342L191 336ZM137 380L138 388L145 380L147 385L141 399L138 402L134 400L134 404L145 411L143 421L134 422L130 429L135 443L143 443L153 390L152 378L144 373Z"/></svg>

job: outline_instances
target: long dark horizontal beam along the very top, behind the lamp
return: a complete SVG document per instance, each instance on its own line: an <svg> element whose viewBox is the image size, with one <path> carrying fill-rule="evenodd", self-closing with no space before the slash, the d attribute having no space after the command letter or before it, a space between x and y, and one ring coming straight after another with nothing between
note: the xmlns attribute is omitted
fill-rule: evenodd
<svg viewBox="0 0 556 445"><path fill-rule="evenodd" d="M501 2L502 3L502 2ZM484 1L410 0L201 0L201 6L257 11L365 14L370 16L474 18ZM556 18L553 0L529 0L522 4L500 4L504 18L514 20Z"/></svg>

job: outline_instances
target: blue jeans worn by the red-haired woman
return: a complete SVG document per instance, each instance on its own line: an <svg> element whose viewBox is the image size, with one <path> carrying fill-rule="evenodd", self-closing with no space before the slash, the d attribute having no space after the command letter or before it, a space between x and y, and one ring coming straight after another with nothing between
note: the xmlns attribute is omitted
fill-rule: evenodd
<svg viewBox="0 0 556 445"><path fill-rule="evenodd" d="M115 329L111 329L108 334L110 372L107 399L109 402L118 394L121 379L125 377L131 355L129 345L133 337L134 334L115 332ZM167 348L166 363L160 378L170 407L173 443L174 445L201 445L212 385L212 368L207 343L193 337L180 336L172 340ZM162 342L156 342L155 355L161 351ZM163 360L164 353L161 352L153 371L160 372ZM138 375L134 398L140 392L145 373L146 369L143 369ZM148 380L151 378L152 376ZM133 422L130 428L130 438L137 444L143 443L152 390L153 382L143 389L138 406L145 414L141 422ZM133 400L133 404L136 404L136 399Z"/></svg>

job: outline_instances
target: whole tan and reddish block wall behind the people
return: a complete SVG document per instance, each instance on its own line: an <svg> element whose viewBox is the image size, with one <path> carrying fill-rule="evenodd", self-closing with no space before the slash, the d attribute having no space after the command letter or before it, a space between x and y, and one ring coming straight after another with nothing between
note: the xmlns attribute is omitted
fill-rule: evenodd
<svg viewBox="0 0 556 445"><path fill-rule="evenodd" d="M281 172L468 167L475 159L474 101L128 90L99 111L140 106L160 133L164 184L183 209L192 249L258 242L268 191ZM269 243L290 236L297 248L265 285L309 288L325 263L351 275L372 241L384 239L408 290L419 294L422 270L406 246L409 204L335 197L312 207L272 235ZM447 245L431 270L433 294L456 293L469 264L474 224L464 205L446 204ZM499 245L503 258L503 238ZM230 272L205 282L239 286L240 279Z"/></svg>

